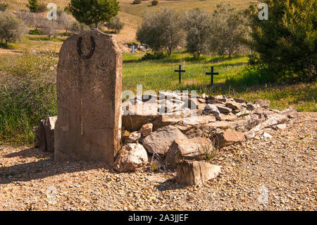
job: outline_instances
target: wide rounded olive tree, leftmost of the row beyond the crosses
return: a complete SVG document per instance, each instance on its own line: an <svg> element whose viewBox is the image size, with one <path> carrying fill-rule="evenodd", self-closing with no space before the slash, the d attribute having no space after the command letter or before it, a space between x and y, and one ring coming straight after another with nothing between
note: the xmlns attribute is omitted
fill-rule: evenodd
<svg viewBox="0 0 317 225"><path fill-rule="evenodd" d="M153 51L167 50L168 56L173 49L183 44L185 31L182 28L183 16L171 8L144 13L141 26L137 30L137 40L148 44Z"/></svg>

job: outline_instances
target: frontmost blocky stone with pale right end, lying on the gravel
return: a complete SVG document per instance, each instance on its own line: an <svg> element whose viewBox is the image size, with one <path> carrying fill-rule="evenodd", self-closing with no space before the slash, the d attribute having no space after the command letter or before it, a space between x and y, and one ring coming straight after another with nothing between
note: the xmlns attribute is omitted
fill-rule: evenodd
<svg viewBox="0 0 317 225"><path fill-rule="evenodd" d="M178 163L176 181L189 186L200 186L220 174L221 166L207 162L187 161Z"/></svg>

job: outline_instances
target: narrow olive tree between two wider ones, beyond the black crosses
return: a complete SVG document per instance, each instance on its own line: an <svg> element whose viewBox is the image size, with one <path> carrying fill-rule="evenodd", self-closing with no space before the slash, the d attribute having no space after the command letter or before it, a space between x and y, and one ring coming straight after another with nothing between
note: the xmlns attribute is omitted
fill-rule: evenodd
<svg viewBox="0 0 317 225"><path fill-rule="evenodd" d="M211 36L211 16L200 9L186 13L185 28L187 51L195 58L209 52Z"/></svg>

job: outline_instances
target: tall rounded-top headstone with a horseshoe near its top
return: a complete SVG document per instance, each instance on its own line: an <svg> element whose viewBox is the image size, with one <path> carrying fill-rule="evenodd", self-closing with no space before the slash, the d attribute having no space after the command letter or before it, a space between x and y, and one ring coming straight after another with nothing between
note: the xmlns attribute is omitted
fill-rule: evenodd
<svg viewBox="0 0 317 225"><path fill-rule="evenodd" d="M122 55L110 35L89 30L66 39L57 67L55 159L110 166L121 127Z"/></svg>

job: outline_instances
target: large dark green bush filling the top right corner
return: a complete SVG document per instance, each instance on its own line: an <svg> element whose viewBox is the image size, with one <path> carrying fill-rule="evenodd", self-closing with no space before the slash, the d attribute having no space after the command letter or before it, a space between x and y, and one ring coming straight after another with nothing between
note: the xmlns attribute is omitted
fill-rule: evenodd
<svg viewBox="0 0 317 225"><path fill-rule="evenodd" d="M259 20L255 6L249 8L251 49L274 74L297 73L313 80L317 61L316 0L268 0L268 20Z"/></svg>

